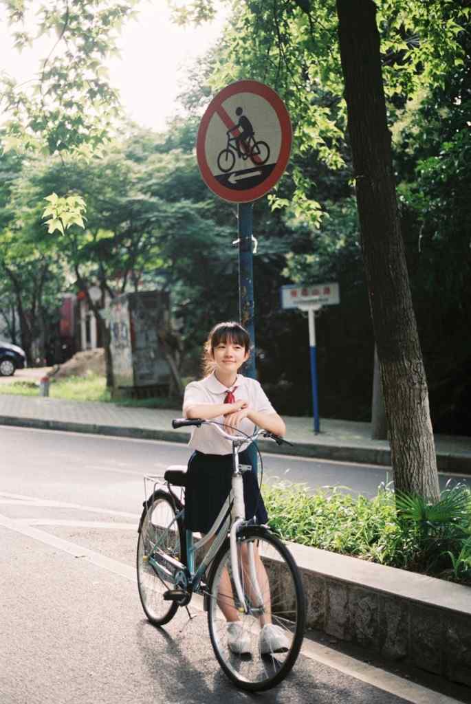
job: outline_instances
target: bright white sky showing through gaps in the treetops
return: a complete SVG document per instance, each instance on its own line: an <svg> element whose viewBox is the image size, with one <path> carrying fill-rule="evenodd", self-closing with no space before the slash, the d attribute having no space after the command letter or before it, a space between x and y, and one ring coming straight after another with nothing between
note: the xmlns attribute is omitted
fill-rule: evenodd
<svg viewBox="0 0 471 704"><path fill-rule="evenodd" d="M177 94L184 67L204 54L218 39L224 17L201 27L178 27L170 22L165 0L142 0L137 20L125 25L120 37L121 59L108 63L111 82L120 90L125 111L139 125L159 131L178 110ZM54 39L39 39L19 54L13 48L11 27L0 5L0 70L19 82L34 78L39 61L49 54ZM0 115L1 121L1 115Z"/></svg>

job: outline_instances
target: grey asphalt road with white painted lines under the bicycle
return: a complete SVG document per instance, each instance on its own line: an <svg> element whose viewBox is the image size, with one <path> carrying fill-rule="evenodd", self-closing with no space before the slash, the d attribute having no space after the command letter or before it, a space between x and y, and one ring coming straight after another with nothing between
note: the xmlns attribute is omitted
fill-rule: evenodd
<svg viewBox="0 0 471 704"><path fill-rule="evenodd" d="M206 615L191 605L191 620L180 610L168 627L154 629L137 596L142 474L185 456L186 448L170 443L0 427L1 704L232 704L251 698L220 672ZM309 471L303 460L287 461L270 456L266 471ZM320 477L334 476L332 463L309 463L310 471L319 465ZM358 467L348 471L353 477ZM456 701L314 639L306 640L287 681L261 699Z"/></svg>

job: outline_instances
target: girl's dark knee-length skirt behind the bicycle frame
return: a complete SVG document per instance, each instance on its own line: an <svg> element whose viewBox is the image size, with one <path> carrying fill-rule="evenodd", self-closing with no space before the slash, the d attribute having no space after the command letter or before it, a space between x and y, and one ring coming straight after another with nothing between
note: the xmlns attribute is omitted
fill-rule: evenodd
<svg viewBox="0 0 471 704"><path fill-rule="evenodd" d="M252 465L244 450L239 454L242 465ZM196 451L189 458L185 490L185 523L194 532L207 533L218 517L231 490L232 455L206 455ZM256 470L242 474L246 520L268 521L262 495L258 489Z"/></svg>

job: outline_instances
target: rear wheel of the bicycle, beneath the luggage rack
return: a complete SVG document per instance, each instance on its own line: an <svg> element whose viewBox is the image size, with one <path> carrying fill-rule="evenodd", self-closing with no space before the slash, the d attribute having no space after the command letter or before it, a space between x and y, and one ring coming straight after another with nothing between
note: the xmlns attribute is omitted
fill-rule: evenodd
<svg viewBox="0 0 471 704"><path fill-rule="evenodd" d="M167 491L156 491L149 498L139 522L137 541L137 587L142 608L154 626L163 626L175 615L178 604L164 601L163 593L173 589L172 578L162 579L149 562L156 546L170 558L184 562L184 528L175 516L182 505Z"/></svg>

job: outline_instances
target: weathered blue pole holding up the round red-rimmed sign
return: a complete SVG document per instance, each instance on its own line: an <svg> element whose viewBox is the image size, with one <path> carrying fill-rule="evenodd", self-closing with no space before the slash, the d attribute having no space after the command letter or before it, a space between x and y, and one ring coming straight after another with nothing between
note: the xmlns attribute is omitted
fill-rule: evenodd
<svg viewBox="0 0 471 704"><path fill-rule="evenodd" d="M253 318L253 203L239 203L237 206L239 231L239 320L249 332L252 353L244 366L244 374L256 379L255 363L255 321Z"/></svg>

